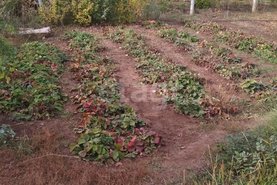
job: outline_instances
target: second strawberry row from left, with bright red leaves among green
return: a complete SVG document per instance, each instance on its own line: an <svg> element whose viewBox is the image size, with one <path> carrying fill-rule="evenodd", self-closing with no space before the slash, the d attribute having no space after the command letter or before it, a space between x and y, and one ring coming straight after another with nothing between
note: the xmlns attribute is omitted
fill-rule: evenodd
<svg viewBox="0 0 277 185"><path fill-rule="evenodd" d="M70 151L85 160L113 164L120 159L148 156L151 149L163 143L161 136L146 130L145 122L129 106L119 102L119 86L115 79L115 64L97 56L104 48L89 33L69 32L64 39L73 49L75 61L70 69L79 84L72 89L70 100L78 103L82 113L75 128L80 138L70 145Z"/></svg>

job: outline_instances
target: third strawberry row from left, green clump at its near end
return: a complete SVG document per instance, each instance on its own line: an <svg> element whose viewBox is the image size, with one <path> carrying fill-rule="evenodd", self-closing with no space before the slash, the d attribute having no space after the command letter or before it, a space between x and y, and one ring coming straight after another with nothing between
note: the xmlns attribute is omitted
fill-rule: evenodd
<svg viewBox="0 0 277 185"><path fill-rule="evenodd" d="M165 101L184 114L203 116L205 112L199 103L203 98L203 80L183 65L177 65L152 49L145 38L132 29L105 29L104 34L123 46L137 59L136 69L144 83L158 83Z"/></svg>

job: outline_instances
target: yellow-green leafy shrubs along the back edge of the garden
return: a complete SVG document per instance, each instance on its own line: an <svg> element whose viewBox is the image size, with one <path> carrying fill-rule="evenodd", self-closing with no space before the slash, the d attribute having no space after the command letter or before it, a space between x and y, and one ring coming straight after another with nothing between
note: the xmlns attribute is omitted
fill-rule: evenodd
<svg viewBox="0 0 277 185"><path fill-rule="evenodd" d="M139 17L158 18L170 5L167 0L48 0L39 14L49 24L61 24L67 17L85 26L131 23Z"/></svg>

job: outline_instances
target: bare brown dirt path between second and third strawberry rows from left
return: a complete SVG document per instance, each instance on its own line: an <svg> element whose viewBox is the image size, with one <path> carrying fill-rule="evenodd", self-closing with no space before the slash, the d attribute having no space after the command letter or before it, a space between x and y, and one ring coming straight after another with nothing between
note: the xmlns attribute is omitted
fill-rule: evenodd
<svg viewBox="0 0 277 185"><path fill-rule="evenodd" d="M223 136L223 131L205 133L198 129L200 119L177 114L172 106L162 103L163 99L155 96L158 90L155 86L140 83L135 59L122 45L103 38L99 27L90 27L85 31L100 38L106 48L101 54L110 56L117 63L121 101L132 106L141 119L151 124L152 130L164 137L166 146L159 149L166 156L164 167L203 166L202 154L207 151L208 145L213 145L216 139Z"/></svg>

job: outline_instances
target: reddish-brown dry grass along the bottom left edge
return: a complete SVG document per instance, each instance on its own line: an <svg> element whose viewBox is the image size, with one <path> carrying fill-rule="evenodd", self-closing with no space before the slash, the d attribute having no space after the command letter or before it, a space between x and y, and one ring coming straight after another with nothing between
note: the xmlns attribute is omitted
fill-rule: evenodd
<svg viewBox="0 0 277 185"><path fill-rule="evenodd" d="M148 174L146 160L126 160L123 166L104 167L92 162L61 156L45 156L59 153L59 137L47 129L33 135L30 146L34 155L20 157L17 149L0 151L0 184L51 185L51 184L143 184L143 177Z"/></svg>

